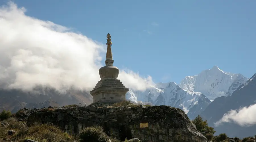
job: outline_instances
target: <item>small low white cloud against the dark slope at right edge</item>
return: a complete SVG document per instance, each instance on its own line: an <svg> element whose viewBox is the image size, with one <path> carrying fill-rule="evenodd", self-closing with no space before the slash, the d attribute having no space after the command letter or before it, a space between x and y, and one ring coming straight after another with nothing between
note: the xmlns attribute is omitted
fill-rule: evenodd
<svg viewBox="0 0 256 142"><path fill-rule="evenodd" d="M248 107L243 107L238 110L230 110L223 117L214 123L215 126L219 126L224 122L235 122L240 126L252 126L256 124L256 104Z"/></svg>

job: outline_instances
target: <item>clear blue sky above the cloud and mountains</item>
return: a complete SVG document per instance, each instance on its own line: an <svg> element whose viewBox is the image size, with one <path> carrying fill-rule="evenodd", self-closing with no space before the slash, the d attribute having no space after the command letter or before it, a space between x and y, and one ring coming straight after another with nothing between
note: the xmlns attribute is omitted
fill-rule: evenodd
<svg viewBox="0 0 256 142"><path fill-rule="evenodd" d="M214 65L248 78L256 73L253 0L14 2L28 16L104 44L109 32L114 65L150 75L154 82L179 83Z"/></svg>

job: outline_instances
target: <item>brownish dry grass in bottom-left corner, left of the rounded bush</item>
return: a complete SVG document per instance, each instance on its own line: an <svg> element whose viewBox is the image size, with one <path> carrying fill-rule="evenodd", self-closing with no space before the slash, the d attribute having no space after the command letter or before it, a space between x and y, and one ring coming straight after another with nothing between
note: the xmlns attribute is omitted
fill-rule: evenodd
<svg viewBox="0 0 256 142"><path fill-rule="evenodd" d="M24 122L17 121L15 118L9 118L6 122L10 123L10 125L0 128L0 142L3 142L3 139L6 138L15 142L23 142L25 139L33 139L40 142L78 141L77 136L70 136L53 125L43 124L27 127ZM14 130L16 133L9 136L7 135L8 130Z"/></svg>

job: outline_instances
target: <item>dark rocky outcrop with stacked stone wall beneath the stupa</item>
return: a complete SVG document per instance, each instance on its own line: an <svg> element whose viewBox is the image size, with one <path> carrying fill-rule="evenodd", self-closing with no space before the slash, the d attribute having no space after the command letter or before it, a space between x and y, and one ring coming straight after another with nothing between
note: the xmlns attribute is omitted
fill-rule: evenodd
<svg viewBox="0 0 256 142"><path fill-rule="evenodd" d="M146 122L148 128L140 128ZM103 126L109 136L120 140L208 142L182 110L170 106L41 109L28 116L27 125L34 123L53 123L69 133Z"/></svg>

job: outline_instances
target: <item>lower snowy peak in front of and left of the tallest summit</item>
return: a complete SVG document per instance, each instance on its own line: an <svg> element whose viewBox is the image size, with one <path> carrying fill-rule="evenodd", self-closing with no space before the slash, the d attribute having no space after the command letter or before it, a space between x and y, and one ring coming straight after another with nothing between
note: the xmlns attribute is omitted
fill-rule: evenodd
<svg viewBox="0 0 256 142"><path fill-rule="evenodd" d="M202 93L185 91L175 82L169 82L154 101L155 105L168 105L183 110L189 118L195 118L211 103ZM191 111L192 110L192 111ZM190 112L190 113L189 113Z"/></svg>

